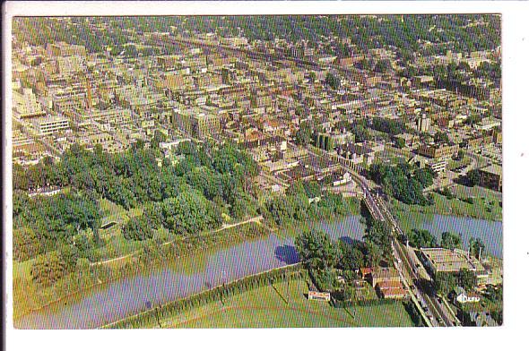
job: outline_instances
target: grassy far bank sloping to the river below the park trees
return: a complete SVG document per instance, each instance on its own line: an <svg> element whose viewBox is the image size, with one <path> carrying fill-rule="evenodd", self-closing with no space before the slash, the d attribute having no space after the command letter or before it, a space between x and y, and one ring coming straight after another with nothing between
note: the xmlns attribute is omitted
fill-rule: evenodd
<svg viewBox="0 0 529 351"><path fill-rule="evenodd" d="M51 287L39 287L30 280L30 261L17 263L13 268L13 320L17 321L53 304L78 299L87 291L118 279L159 269L161 264L168 264L172 260L267 234L266 228L249 222L209 235L175 238L169 244L145 244L141 251L127 255L122 260L108 261L107 264L94 265L88 260L80 260L76 271L59 279Z"/></svg>

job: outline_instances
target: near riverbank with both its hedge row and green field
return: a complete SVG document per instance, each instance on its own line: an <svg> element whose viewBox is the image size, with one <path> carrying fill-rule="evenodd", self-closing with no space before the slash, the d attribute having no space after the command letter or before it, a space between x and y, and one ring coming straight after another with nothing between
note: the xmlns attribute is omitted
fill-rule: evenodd
<svg viewBox="0 0 529 351"><path fill-rule="evenodd" d="M106 328L340 328L340 327L412 327L412 319L402 303L384 306L334 308L329 303L309 301L304 270L297 265L276 269L282 278L262 279L263 285L250 284L260 276L234 282L238 292L200 299L193 297L160 306L142 315L132 316ZM243 286L240 283L246 281ZM230 287L222 287L229 290ZM205 292L209 293L209 292ZM211 294L211 293L210 293ZM204 295L204 293L202 294ZM176 305L179 307L177 308Z"/></svg>

